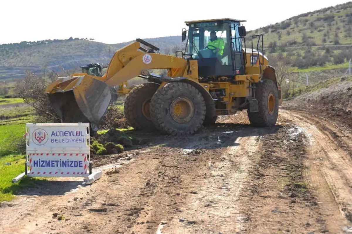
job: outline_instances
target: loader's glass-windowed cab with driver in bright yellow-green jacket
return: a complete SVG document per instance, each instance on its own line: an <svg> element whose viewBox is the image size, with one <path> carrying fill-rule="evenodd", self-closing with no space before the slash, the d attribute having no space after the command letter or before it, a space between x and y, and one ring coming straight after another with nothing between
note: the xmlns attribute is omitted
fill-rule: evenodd
<svg viewBox="0 0 352 234"><path fill-rule="evenodd" d="M188 55L198 60L200 77L228 76L245 74L242 38L245 20L215 19L187 21ZM183 38L185 39L185 31ZM215 37L211 34L215 33ZM220 51L216 48L220 47Z"/></svg>

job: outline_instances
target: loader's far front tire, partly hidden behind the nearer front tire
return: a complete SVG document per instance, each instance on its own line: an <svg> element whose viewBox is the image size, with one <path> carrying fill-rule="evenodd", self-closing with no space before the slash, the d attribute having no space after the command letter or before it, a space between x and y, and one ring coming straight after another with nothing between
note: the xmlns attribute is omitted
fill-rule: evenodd
<svg viewBox="0 0 352 234"><path fill-rule="evenodd" d="M128 124L134 129L156 130L150 119L150 100L159 88L156 83L140 84L128 93L125 99L124 113Z"/></svg>

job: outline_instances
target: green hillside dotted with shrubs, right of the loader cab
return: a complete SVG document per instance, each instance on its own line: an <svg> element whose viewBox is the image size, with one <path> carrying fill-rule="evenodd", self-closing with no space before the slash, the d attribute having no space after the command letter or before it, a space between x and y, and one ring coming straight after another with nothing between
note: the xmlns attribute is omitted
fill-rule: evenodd
<svg viewBox="0 0 352 234"><path fill-rule="evenodd" d="M351 25L352 2L347 2L250 31L246 41L248 46L252 35L264 33L266 54L283 53L298 69L343 64L352 57Z"/></svg>

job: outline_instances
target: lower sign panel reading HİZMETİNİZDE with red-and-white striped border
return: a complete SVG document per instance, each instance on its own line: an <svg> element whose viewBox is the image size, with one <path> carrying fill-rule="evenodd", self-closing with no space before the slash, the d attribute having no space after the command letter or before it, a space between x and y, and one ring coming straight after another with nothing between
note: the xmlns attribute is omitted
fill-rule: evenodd
<svg viewBox="0 0 352 234"><path fill-rule="evenodd" d="M81 153L29 154L29 176L76 177L89 174L88 155Z"/></svg>

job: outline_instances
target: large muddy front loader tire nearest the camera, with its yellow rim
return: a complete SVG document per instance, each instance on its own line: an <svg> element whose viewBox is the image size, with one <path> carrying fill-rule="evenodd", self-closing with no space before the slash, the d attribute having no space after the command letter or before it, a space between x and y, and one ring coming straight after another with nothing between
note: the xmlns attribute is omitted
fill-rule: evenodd
<svg viewBox="0 0 352 234"><path fill-rule="evenodd" d="M205 114L202 94L188 83L167 83L156 91L151 100L151 120L166 134L194 134L202 127Z"/></svg>

